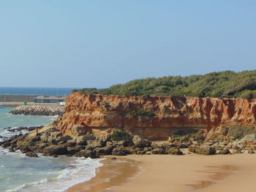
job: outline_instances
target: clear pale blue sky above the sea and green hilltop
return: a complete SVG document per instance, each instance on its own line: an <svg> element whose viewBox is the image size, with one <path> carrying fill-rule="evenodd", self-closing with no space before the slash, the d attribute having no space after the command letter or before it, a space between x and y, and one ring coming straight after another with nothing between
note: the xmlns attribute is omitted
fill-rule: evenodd
<svg viewBox="0 0 256 192"><path fill-rule="evenodd" d="M1 0L0 87L256 67L255 0Z"/></svg>

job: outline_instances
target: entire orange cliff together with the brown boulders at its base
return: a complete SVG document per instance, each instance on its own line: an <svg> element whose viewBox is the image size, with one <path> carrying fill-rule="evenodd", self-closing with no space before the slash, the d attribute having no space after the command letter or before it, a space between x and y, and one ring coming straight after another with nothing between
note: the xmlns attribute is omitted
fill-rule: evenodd
<svg viewBox="0 0 256 192"><path fill-rule="evenodd" d="M1 147L32 157L91 158L182 155L184 148L204 155L256 150L255 100L72 93L64 110L48 126L6 139Z"/></svg>

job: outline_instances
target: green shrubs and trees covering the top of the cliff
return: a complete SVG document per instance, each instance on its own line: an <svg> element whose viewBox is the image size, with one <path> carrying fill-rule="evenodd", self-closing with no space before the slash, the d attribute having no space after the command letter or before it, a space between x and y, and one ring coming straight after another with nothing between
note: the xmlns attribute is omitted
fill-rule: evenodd
<svg viewBox="0 0 256 192"><path fill-rule="evenodd" d="M256 98L256 70L244 72L212 72L187 77L168 76L132 80L110 88L74 90L86 94L120 96L209 96Z"/></svg>

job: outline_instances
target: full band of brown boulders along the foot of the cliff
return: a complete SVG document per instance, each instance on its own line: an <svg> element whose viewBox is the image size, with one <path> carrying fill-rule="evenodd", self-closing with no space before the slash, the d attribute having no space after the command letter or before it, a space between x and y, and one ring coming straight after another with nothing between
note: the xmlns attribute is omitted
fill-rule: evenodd
<svg viewBox="0 0 256 192"><path fill-rule="evenodd" d="M199 133L200 134L200 133ZM113 140L113 137L97 137L95 134L87 134L80 137L64 135L53 124L43 128L36 128L28 134L19 134L4 142L0 147L5 147L10 152L20 150L30 157L37 157L37 153L56 157L67 155L85 158L99 158L101 155L151 155L170 154L183 155L185 148L190 153L203 155L230 154L230 153L255 153L256 142L241 141L219 142L208 141L197 134L184 137L170 137L165 142L151 142L138 135L129 135L121 141Z"/></svg>

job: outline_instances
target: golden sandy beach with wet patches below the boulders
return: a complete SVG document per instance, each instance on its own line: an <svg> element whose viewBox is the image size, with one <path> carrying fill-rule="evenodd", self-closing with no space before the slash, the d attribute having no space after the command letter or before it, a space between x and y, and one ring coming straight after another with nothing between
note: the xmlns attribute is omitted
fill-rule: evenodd
<svg viewBox="0 0 256 192"><path fill-rule="evenodd" d="M127 155L108 158L97 177L69 192L255 191L256 154Z"/></svg>

